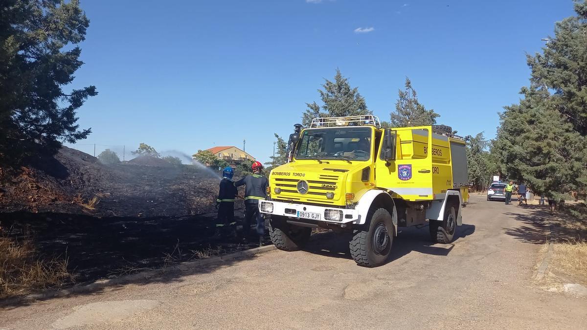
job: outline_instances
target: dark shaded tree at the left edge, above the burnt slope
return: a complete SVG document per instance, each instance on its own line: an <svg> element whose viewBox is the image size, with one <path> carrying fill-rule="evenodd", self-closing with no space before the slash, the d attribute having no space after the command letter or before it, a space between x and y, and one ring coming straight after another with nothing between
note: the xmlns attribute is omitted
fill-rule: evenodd
<svg viewBox="0 0 587 330"><path fill-rule="evenodd" d="M5 0L0 6L0 160L55 153L85 139L76 110L96 87L63 87L82 66L89 21L78 0Z"/></svg>

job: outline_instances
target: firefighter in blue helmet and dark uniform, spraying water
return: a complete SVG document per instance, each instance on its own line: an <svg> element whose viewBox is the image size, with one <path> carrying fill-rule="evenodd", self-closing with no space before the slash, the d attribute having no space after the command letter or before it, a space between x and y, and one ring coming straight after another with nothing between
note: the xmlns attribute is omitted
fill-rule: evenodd
<svg viewBox="0 0 587 330"><path fill-rule="evenodd" d="M220 191L216 199L216 208L218 217L216 218L216 231L214 236L220 237L222 232L225 234L235 235L237 222L234 220L234 198L237 196L237 187L232 182L234 170L227 166L222 171L222 181L220 181Z"/></svg>

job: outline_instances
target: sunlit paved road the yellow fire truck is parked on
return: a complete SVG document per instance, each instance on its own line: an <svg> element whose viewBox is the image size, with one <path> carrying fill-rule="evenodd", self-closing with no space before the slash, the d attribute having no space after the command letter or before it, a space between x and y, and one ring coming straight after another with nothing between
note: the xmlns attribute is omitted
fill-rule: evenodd
<svg viewBox="0 0 587 330"><path fill-rule="evenodd" d="M587 299L532 282L541 260L535 210L472 197L454 244L403 230L389 264L358 267L345 241L147 284L0 311L0 326L90 328L587 328Z"/></svg>

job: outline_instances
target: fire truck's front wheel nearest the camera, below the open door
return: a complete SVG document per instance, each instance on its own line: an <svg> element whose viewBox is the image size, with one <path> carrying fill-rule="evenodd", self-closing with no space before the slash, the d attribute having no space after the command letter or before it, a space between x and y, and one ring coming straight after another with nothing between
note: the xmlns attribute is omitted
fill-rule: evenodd
<svg viewBox="0 0 587 330"><path fill-rule="evenodd" d="M393 220L385 208L378 208L369 220L369 231L355 230L349 242L350 255L357 265L377 267L389 258L393 244Z"/></svg>

